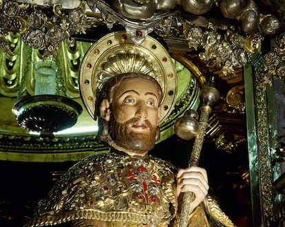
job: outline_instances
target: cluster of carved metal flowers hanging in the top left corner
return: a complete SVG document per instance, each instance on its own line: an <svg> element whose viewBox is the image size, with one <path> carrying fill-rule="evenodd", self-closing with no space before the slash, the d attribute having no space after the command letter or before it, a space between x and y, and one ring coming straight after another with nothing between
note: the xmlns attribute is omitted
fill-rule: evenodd
<svg viewBox="0 0 285 227"><path fill-rule="evenodd" d="M50 12L48 8L39 8L36 4L19 4L15 1L3 1L1 5L0 26L1 38L8 32L18 32L21 39L28 46L44 50L44 56L55 57L61 41L73 43L72 34L85 32L85 8L81 4L78 8L63 12L61 4L54 4ZM1 39L0 46L7 46L7 40ZM8 48L5 48L11 54Z"/></svg>

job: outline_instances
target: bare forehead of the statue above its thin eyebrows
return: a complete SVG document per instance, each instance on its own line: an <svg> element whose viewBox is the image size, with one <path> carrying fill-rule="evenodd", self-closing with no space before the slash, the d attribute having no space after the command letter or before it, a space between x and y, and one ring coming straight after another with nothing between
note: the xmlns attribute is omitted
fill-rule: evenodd
<svg viewBox="0 0 285 227"><path fill-rule="evenodd" d="M157 98L158 88L154 85L152 81L149 81L145 78L128 78L125 79L120 85L116 88L116 95L123 95L125 92L138 92L140 95L155 95Z"/></svg>

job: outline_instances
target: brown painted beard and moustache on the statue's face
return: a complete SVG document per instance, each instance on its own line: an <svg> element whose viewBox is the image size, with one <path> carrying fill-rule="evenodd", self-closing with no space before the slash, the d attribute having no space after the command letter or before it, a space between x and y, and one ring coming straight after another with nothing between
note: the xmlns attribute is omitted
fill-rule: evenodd
<svg viewBox="0 0 285 227"><path fill-rule="evenodd" d="M138 122L138 118L132 118L121 124L116 122L112 116L109 121L109 135L116 145L140 155L154 148L156 131L159 129L151 126L149 121L144 121L143 124L147 126L147 132L134 132L131 130L131 126Z"/></svg>

